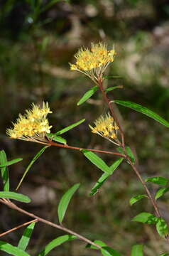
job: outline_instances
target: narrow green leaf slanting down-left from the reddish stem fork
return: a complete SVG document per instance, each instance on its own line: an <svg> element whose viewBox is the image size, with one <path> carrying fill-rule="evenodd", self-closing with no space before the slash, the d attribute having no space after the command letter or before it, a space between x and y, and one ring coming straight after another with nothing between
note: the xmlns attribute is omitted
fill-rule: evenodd
<svg viewBox="0 0 169 256"><path fill-rule="evenodd" d="M97 191L99 190L99 188L103 185L104 181L107 180L107 178L109 178L109 176L111 174L114 173L114 171L116 170L116 168L119 166L119 164L121 164L121 161L123 161L123 158L117 159L113 164L111 164L111 166L109 166L109 171L110 173L104 173L99 180L97 181L97 183L94 185L94 187L91 190L91 193L89 194L89 196L94 196L95 193L97 193Z"/></svg>

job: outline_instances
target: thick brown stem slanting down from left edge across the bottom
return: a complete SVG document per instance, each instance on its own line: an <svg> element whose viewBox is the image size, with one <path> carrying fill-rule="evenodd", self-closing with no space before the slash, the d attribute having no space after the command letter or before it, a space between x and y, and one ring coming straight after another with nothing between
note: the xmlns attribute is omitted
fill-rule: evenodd
<svg viewBox="0 0 169 256"><path fill-rule="evenodd" d="M79 234L75 233L74 231L72 231L72 230L70 230L70 229L68 229L68 228L63 227L62 225L58 225L58 224L52 223L52 222L50 222L49 220L45 220L45 219L43 219L43 218L40 218L40 217L34 215L33 213L30 213L30 212L28 212L28 211L26 211L26 210L23 210L22 208L16 206L16 205L15 205L14 203L12 203L11 201L4 201L3 199L0 199L0 202L1 202L1 203L4 203L6 206L9 206L9 208L12 208L13 210L18 210L20 213L23 213L23 214L25 214L25 215L28 215L28 216L30 216L31 218L36 219L37 221L40 221L40 222L45 223L45 224L47 224L47 225L50 225L50 226L52 226L52 227L54 227L54 228L58 228L58 229L60 229L60 230L63 230L63 231L65 231L65 232L67 232L67 233L70 233L71 235L75 235L75 236L76 236L77 238L79 238L80 240L82 240L82 241L84 241L84 242L87 242L87 243L89 243L90 245L94 245L94 246L97 247L98 249L101 249L101 246L95 244L94 242L92 242L91 240L89 240L89 239L87 239L87 238L84 238L84 236L79 235Z"/></svg>

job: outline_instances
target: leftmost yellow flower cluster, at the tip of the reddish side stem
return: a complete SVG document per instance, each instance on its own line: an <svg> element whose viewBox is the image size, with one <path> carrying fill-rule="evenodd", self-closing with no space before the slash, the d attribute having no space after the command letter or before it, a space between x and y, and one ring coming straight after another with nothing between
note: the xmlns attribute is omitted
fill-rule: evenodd
<svg viewBox="0 0 169 256"><path fill-rule="evenodd" d="M43 106L32 105L31 110L26 110L26 114L19 114L13 129L7 129L6 133L12 139L23 139L31 142L46 142L45 134L50 133L47 114L52 113L48 107L48 102L43 102Z"/></svg>

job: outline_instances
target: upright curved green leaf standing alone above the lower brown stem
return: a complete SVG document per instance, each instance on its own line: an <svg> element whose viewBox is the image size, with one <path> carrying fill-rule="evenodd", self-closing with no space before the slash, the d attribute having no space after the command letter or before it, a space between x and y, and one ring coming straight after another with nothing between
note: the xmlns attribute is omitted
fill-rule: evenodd
<svg viewBox="0 0 169 256"><path fill-rule="evenodd" d="M59 222L62 223L62 220L65 216L65 212L67 210L67 206L70 203L70 199L72 198L73 194L77 191L77 188L80 187L80 183L73 185L69 188L66 193L60 199L60 203L58 205L58 218Z"/></svg>

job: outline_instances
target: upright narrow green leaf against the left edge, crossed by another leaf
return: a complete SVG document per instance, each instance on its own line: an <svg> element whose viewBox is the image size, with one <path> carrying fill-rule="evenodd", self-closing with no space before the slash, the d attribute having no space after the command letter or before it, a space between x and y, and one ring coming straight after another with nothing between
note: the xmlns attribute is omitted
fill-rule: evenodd
<svg viewBox="0 0 169 256"><path fill-rule="evenodd" d="M4 150L1 150L0 151L0 164L3 165L6 163L6 161L7 161L6 153ZM1 177L3 180L3 184L4 184L4 191L9 191L9 170L6 166L1 168Z"/></svg>

